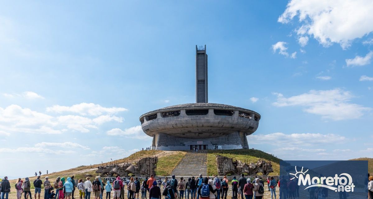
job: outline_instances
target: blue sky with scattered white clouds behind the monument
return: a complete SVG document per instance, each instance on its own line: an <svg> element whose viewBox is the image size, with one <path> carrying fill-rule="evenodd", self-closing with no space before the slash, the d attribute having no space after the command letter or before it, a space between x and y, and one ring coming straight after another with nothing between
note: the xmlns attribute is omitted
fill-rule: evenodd
<svg viewBox="0 0 373 199"><path fill-rule="evenodd" d="M209 102L261 114L250 147L373 158L372 20L369 0L2 2L0 176L149 146L139 116L195 101L204 44Z"/></svg>

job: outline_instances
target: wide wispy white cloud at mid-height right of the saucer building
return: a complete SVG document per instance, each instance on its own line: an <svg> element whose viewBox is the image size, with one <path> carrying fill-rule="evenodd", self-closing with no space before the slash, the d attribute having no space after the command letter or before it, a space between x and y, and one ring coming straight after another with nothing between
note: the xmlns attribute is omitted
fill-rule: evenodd
<svg viewBox="0 0 373 199"><path fill-rule="evenodd" d="M333 90L310 90L292 97L283 97L281 93L277 95L277 102L273 106L303 106L303 111L311 114L322 115L322 118L343 120L360 118L364 112L370 111L361 105L350 103L354 97L349 91L339 88Z"/></svg>

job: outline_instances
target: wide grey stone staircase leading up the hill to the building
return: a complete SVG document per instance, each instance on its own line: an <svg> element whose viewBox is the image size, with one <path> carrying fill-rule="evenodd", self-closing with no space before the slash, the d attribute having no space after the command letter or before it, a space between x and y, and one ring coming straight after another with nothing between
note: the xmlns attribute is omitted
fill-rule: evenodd
<svg viewBox="0 0 373 199"><path fill-rule="evenodd" d="M170 175L188 179L187 177L198 177L200 174L207 176L207 152L204 151L186 153Z"/></svg>

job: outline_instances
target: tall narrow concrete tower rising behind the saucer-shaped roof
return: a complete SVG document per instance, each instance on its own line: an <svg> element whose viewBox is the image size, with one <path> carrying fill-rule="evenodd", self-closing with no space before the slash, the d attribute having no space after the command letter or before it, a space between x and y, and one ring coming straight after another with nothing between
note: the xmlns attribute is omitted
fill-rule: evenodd
<svg viewBox="0 0 373 199"><path fill-rule="evenodd" d="M208 103L207 54L205 47L195 46L195 101Z"/></svg>

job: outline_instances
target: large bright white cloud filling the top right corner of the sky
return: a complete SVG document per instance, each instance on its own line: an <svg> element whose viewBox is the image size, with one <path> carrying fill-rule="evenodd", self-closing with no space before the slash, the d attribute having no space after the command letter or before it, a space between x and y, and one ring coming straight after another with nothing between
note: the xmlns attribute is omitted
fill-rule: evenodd
<svg viewBox="0 0 373 199"><path fill-rule="evenodd" d="M278 21L289 23L298 16L298 35L313 35L323 46L338 43L346 49L352 40L373 31L372 13L371 0L291 0Z"/></svg>

